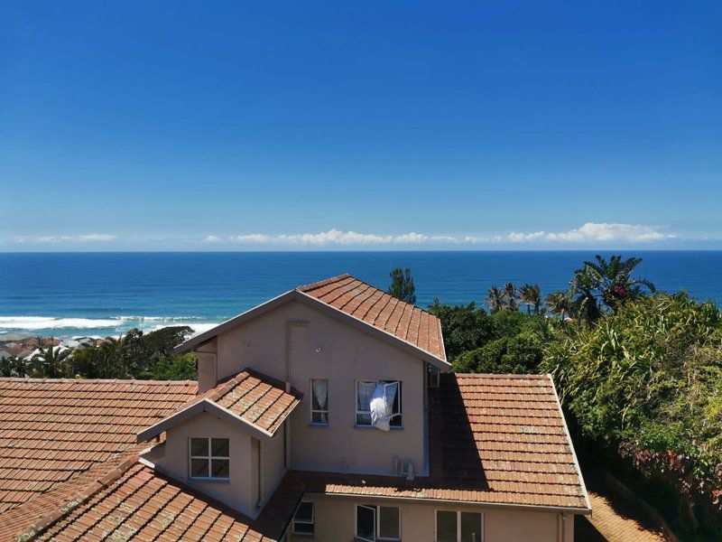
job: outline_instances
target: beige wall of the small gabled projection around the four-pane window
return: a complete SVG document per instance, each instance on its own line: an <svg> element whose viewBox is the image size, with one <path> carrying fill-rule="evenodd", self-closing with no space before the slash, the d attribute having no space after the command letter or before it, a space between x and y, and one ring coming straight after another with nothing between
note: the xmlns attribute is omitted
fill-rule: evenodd
<svg viewBox="0 0 722 542"><path fill-rule="evenodd" d="M202 481L190 478L189 446L191 437L230 439L230 476L228 481ZM153 457L164 472L184 481L231 508L255 517L258 500L257 441L234 425L204 412L172 427L166 433L165 453Z"/></svg>

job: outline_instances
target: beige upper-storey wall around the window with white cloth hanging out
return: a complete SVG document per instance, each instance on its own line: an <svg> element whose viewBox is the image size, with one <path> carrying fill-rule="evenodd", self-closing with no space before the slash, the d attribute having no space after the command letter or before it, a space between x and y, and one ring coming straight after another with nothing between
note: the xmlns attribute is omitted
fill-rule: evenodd
<svg viewBox="0 0 722 542"><path fill-rule="evenodd" d="M291 324L291 325L289 325ZM218 378L249 367L304 394L291 416L293 469L392 474L396 457L423 473L425 363L307 304L292 301L218 336ZM329 426L310 425L310 380L329 379ZM403 429L356 427L356 380L402 381Z"/></svg>

